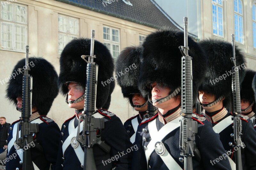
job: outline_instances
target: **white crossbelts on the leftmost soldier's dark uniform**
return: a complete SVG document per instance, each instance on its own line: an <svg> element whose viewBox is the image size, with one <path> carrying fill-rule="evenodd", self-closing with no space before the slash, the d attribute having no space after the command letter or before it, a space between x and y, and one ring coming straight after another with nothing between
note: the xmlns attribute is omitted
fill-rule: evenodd
<svg viewBox="0 0 256 170"><path fill-rule="evenodd" d="M42 121L41 119L39 119L39 118L36 119L36 120L31 121L31 123L38 123L38 124L40 124L40 123L42 123L42 122L43 122L43 121ZM13 126L12 139L11 139L11 141L9 142L8 146L7 146L9 152L10 152L12 146L14 145L14 142L16 141L16 135L17 135L18 124L19 124L19 123L17 122L17 123L15 123L14 126ZM40 131L40 129L39 129L39 131ZM20 137L20 130L19 130L19 137ZM30 147L30 146L29 146L29 147ZM16 150L16 152L17 152L17 154L19 155L20 160L23 162L23 149L20 148L20 149ZM38 168L34 162L33 162L33 165L34 165L34 168ZM38 169L39 169L39 168L38 168Z"/></svg>

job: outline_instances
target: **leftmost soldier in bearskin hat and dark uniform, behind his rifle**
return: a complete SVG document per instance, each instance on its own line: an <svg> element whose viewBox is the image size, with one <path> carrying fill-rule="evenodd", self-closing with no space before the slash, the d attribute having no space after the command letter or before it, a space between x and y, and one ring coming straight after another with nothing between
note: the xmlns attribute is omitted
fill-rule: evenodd
<svg viewBox="0 0 256 170"><path fill-rule="evenodd" d="M8 162L6 161L6 169L22 169L22 149L28 147L31 149L31 158L34 167L37 166L39 169L45 170L50 169L50 167L51 169L55 169L59 148L60 128L52 119L46 117L46 115L59 92L58 75L52 64L41 57L30 57L28 63L30 67L28 73L33 77L32 115L30 121L31 123L39 123L39 132L33 136L36 140L35 143L33 141L24 148L20 148L15 142L18 122L20 120L12 123L7 140L7 158L13 157L14 155L17 157L16 159L9 159ZM6 97L12 101L20 111L22 110L23 75L19 74L18 68L23 68L24 65L25 58L14 66L12 73L16 73L16 77L10 79L6 90Z"/></svg>

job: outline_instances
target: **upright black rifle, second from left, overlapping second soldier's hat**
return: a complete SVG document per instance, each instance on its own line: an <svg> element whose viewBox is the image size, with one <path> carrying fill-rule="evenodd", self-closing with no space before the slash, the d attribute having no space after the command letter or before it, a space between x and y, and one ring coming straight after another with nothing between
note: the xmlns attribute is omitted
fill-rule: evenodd
<svg viewBox="0 0 256 170"><path fill-rule="evenodd" d="M93 62L96 58L94 53L94 37L95 31L92 30L91 39L91 55L82 55L82 59L87 63L86 70L86 88L84 111L79 116L78 130L76 140L84 146L84 170L96 170L96 164L93 156L93 146L98 144L105 152L110 151L110 147L101 141L101 135L97 135L97 131L101 133L104 129L104 118L94 118L93 113L96 111L96 91L98 83L98 65ZM88 61L85 59L88 57ZM83 132L80 135L80 122L83 121Z"/></svg>

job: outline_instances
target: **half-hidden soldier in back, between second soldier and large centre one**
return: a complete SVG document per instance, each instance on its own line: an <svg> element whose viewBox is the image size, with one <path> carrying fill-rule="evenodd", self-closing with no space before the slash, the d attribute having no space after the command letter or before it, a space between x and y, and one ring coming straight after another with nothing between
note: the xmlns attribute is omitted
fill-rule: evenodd
<svg viewBox="0 0 256 170"><path fill-rule="evenodd" d="M135 141L135 132L137 132L138 125L144 118L148 118L148 97L143 98L138 89L138 76L140 73L141 57L143 48L127 47L125 48L116 60L116 73L123 73L117 78L117 83L121 86L124 98L128 98L131 106L139 114L131 117L124 122L124 128L130 137L132 143ZM129 69L132 68L132 69ZM125 69L128 68L126 71ZM152 104L151 104L152 105ZM155 110L155 109L154 109Z"/></svg>

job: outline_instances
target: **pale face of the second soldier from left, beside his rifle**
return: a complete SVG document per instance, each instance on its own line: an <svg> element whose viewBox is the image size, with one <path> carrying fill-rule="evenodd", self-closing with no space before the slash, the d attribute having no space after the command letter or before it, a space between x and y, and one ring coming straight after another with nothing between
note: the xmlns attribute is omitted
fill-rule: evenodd
<svg viewBox="0 0 256 170"><path fill-rule="evenodd" d="M68 84L68 101L74 101L81 97L84 94L84 88L81 87L80 84L77 83L69 83ZM68 104L68 107L75 108L76 110L84 108L84 100L78 103Z"/></svg>

